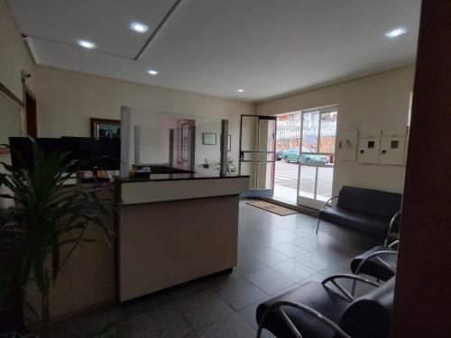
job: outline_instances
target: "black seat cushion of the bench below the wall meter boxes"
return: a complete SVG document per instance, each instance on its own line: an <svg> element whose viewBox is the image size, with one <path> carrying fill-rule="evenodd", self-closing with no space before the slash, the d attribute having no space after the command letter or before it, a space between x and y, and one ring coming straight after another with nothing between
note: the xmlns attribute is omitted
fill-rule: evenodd
<svg viewBox="0 0 451 338"><path fill-rule="evenodd" d="M370 215L358 211L329 207L319 211L319 218L323 221L364 233L377 240L387 236L390 218Z"/></svg>

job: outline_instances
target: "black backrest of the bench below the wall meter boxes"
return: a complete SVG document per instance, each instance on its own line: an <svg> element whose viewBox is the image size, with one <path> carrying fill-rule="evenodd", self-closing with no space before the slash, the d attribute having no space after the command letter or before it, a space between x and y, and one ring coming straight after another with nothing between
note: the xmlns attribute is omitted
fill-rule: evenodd
<svg viewBox="0 0 451 338"><path fill-rule="evenodd" d="M390 219L400 210L402 195L363 187L340 189L336 206Z"/></svg>

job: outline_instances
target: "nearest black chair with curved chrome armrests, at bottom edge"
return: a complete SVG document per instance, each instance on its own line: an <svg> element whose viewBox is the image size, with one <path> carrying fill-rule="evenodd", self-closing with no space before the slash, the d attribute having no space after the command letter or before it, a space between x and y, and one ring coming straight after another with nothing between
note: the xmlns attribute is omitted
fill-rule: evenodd
<svg viewBox="0 0 451 338"><path fill-rule="evenodd" d="M336 279L351 279L375 288L354 298ZM338 292L327 287L330 282ZM257 307L257 338L262 329L278 337L389 338L394 279L380 284L354 275L335 275L308 282Z"/></svg>

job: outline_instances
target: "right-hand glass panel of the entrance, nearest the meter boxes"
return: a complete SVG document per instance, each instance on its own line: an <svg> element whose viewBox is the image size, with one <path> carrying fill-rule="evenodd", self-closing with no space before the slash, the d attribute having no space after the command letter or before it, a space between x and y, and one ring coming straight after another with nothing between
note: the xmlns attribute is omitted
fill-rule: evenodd
<svg viewBox="0 0 451 338"><path fill-rule="evenodd" d="M332 196L336 146L336 106L302 112L298 205L321 208Z"/></svg>

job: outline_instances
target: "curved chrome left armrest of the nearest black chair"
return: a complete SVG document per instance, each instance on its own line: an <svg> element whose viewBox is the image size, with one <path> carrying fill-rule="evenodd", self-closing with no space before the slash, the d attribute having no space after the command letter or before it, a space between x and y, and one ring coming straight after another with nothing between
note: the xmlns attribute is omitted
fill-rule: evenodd
<svg viewBox="0 0 451 338"><path fill-rule="evenodd" d="M279 313L280 313L281 317L283 318L283 321L285 322L285 324L287 324L290 327L291 333L293 333L295 337L302 338L302 335L299 333L299 331L296 328L296 326L293 324L293 322L291 322L290 317L281 308L282 306L293 307L293 308L296 308L296 309L298 309L300 311L307 312L309 315L313 315L316 318L318 318L323 324L327 324L327 326L332 328L340 337L342 337L342 338L352 338L349 334L345 333L345 331L343 331L343 329L340 326L338 326L338 324L336 324L333 321L331 321L329 318L327 318L327 316L320 314L317 310L315 310L315 309L313 309L311 307L308 307L308 306L296 303L296 302L290 302L288 300L281 300L281 301L278 301L278 302L274 302L263 313L262 319L260 320L260 323L258 324L257 338L261 338L262 337L262 330L263 330L264 321L266 320L266 317L270 314L270 312L272 312L272 310L274 310L274 309L279 311Z"/></svg>

